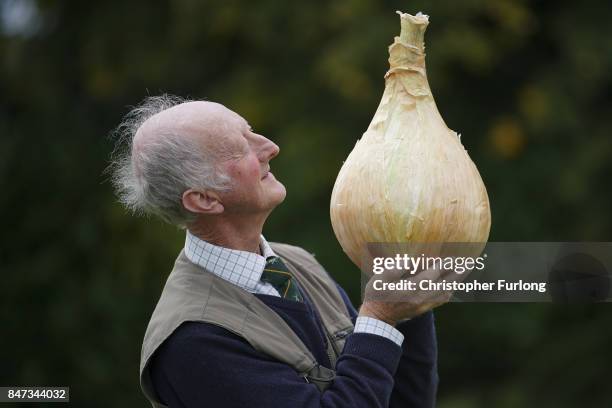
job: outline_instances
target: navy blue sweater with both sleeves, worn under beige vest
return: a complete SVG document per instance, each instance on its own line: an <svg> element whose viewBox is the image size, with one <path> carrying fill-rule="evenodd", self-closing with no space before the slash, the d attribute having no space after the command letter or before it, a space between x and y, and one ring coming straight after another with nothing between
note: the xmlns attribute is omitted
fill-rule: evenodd
<svg viewBox="0 0 612 408"><path fill-rule="evenodd" d="M342 297L353 318L357 312ZM255 295L276 311L330 366L323 329L310 303ZM253 349L243 338L208 323L182 324L151 361L153 384L170 408L432 407L438 384L433 314L397 326L402 347L381 336L351 334L323 393L296 371Z"/></svg>

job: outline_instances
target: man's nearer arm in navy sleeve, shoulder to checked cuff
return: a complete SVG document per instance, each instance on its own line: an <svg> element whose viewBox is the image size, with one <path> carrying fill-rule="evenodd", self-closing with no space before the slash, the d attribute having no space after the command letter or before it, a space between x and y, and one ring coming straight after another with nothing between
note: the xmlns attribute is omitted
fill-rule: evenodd
<svg viewBox="0 0 612 408"><path fill-rule="evenodd" d="M169 407L382 408L389 406L402 349L381 336L347 338L336 379L321 393L295 370L208 323L185 323L156 353L151 371Z"/></svg>

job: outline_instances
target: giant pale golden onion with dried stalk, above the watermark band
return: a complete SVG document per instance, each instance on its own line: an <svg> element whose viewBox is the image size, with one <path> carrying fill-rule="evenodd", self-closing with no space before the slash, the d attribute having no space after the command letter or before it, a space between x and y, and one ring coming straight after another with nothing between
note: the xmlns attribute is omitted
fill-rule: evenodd
<svg viewBox="0 0 612 408"><path fill-rule="evenodd" d="M427 82L428 17L398 13L382 99L331 197L334 233L358 267L367 243L485 243L491 227L484 183Z"/></svg>

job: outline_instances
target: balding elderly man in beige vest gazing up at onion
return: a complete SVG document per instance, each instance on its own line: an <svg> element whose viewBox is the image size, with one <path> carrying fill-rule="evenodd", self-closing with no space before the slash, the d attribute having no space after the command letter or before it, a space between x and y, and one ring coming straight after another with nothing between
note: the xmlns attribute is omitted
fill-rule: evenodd
<svg viewBox="0 0 612 408"><path fill-rule="evenodd" d="M432 303L358 313L311 254L261 235L286 194L276 144L223 105L169 96L119 129L121 201L186 229L143 342L154 407L434 405Z"/></svg>

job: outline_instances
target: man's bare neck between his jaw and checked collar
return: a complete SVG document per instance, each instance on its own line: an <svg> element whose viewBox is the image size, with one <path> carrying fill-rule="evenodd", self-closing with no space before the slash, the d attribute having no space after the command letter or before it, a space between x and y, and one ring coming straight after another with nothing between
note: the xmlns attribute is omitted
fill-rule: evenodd
<svg viewBox="0 0 612 408"><path fill-rule="evenodd" d="M195 222L189 225L188 229L193 235L210 244L260 254L259 242L265 220L260 223L249 221L207 220Z"/></svg>

